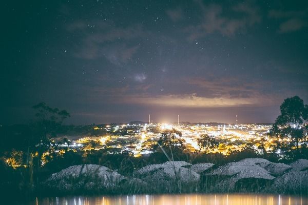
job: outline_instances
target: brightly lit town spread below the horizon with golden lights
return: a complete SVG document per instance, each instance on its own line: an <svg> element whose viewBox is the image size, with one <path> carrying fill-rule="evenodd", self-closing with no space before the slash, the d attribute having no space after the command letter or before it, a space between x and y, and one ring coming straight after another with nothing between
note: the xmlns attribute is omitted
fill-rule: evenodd
<svg viewBox="0 0 308 205"><path fill-rule="evenodd" d="M155 152L154 147L163 132L179 131L182 135L175 134L177 138L184 140L186 152L189 153L219 153L229 155L233 152L241 152L244 148L251 148L257 154L276 152L279 143L292 145L289 137L269 136L269 129L272 124L222 124L217 122L209 123L189 123L178 121L174 124L165 123L130 123L130 124L102 124L81 126L82 130L87 130L88 134L80 134L81 137L62 135L51 138L50 148L42 154L41 166L44 167L50 160L51 153L63 155L67 151L87 153L91 151L103 151L104 154L128 154L133 157L141 157ZM173 131L172 131L173 130ZM217 146L204 149L198 144L198 139L202 135L208 135L217 141ZM299 141L299 145L308 145L307 132ZM39 145L37 145L39 146ZM293 145L292 149L296 149ZM27 167L18 162L21 158L20 152L15 152L15 156L5 159L7 165L17 167ZM283 157L283 155L281 155Z"/></svg>

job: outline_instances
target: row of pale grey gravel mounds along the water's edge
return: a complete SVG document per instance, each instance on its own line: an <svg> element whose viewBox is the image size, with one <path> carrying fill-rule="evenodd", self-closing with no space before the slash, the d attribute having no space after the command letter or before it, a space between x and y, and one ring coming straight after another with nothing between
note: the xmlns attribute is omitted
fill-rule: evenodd
<svg viewBox="0 0 308 205"><path fill-rule="evenodd" d="M179 193L200 189L308 193L307 159L285 165L247 158L204 172L213 166L213 163L191 165L185 161L167 161L145 166L134 172L132 178L100 165L76 165L52 174L45 185L68 193Z"/></svg>

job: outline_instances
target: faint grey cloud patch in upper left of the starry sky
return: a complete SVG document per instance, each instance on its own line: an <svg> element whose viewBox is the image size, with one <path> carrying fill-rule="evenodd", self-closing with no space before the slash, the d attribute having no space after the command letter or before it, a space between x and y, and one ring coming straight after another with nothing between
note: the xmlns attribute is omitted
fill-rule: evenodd
<svg viewBox="0 0 308 205"><path fill-rule="evenodd" d="M114 65L123 65L137 52L132 41L144 35L140 25L116 27L111 22L76 20L67 26L68 32L80 41L74 44L74 56L84 59L105 57Z"/></svg>

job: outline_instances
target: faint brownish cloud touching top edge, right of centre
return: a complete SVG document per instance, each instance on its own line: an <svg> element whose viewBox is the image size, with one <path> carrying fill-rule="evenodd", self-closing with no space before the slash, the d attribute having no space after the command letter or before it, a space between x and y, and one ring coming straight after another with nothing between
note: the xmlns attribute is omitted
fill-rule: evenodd
<svg viewBox="0 0 308 205"><path fill-rule="evenodd" d="M261 22L258 8L248 3L238 4L228 10L223 10L223 7L217 4L206 6L201 1L198 3L202 10L201 23L186 28L186 31L190 32L189 40L215 32L231 36ZM228 16L226 13L233 15ZM231 17L235 15L239 17Z"/></svg>

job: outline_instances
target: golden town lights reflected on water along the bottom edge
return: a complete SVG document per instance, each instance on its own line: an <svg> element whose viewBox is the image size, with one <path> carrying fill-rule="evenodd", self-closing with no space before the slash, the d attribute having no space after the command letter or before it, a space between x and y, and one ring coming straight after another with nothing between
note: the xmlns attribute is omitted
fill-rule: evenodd
<svg viewBox="0 0 308 205"><path fill-rule="evenodd" d="M280 195L183 194L36 198L36 205L308 205L308 198Z"/></svg>

